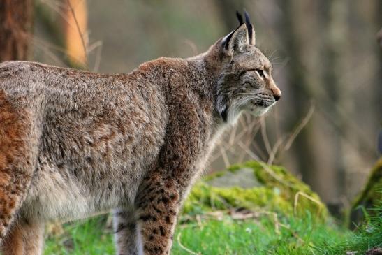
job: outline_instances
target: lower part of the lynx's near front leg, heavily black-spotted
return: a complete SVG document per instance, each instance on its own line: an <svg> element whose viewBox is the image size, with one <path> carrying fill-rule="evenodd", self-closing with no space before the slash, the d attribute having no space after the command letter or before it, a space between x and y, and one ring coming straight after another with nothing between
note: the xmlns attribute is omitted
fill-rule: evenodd
<svg viewBox="0 0 382 255"><path fill-rule="evenodd" d="M170 254L179 212L179 189L170 180L152 180L140 194L138 210L145 254Z"/></svg>

